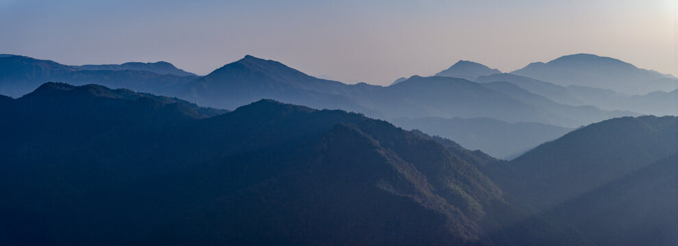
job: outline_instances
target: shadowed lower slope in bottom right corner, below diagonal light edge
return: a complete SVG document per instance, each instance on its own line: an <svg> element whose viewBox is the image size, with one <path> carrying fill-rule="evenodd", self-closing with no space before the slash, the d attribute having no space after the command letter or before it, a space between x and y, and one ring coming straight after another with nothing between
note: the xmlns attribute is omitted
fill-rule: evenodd
<svg viewBox="0 0 678 246"><path fill-rule="evenodd" d="M678 244L678 156L553 209L598 245Z"/></svg>

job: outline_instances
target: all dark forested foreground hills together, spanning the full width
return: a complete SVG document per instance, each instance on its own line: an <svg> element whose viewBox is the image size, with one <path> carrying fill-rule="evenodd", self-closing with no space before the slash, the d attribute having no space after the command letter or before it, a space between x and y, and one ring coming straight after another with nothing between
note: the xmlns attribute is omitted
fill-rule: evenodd
<svg viewBox="0 0 678 246"><path fill-rule="evenodd" d="M494 159L341 110L101 85L0 97L3 245L673 245L678 118Z"/></svg>

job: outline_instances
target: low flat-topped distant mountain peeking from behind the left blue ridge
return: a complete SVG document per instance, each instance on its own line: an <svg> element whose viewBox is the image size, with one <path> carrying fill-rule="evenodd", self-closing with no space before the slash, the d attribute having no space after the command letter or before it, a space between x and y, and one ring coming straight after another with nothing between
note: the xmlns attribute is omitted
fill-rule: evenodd
<svg viewBox="0 0 678 246"><path fill-rule="evenodd" d="M193 72L181 70L167 61L157 62L125 62L123 64L102 64L71 66L78 70L141 70L155 72L156 74L174 74L178 76L197 76Z"/></svg>

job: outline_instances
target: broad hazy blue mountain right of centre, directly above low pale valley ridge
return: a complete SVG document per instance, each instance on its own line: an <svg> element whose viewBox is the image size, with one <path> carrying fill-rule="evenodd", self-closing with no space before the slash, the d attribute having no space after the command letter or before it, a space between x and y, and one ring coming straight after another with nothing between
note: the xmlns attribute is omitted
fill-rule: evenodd
<svg viewBox="0 0 678 246"><path fill-rule="evenodd" d="M356 101L389 118L495 118L561 124L567 118L527 105L479 83L452 77L410 77ZM570 122L568 122L570 123Z"/></svg>

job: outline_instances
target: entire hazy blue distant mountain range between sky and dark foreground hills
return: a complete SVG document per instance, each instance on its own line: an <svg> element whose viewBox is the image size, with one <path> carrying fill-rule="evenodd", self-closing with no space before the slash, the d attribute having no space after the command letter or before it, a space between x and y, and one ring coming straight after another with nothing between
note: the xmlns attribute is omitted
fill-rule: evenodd
<svg viewBox="0 0 678 246"><path fill-rule="evenodd" d="M158 70L158 67L163 69ZM396 119L409 118L411 122L417 123L408 124L407 128L425 128L427 133L439 133L441 137L448 138L459 137L452 134L458 133L459 129L450 130L453 124L431 128L432 124L424 124L423 120L417 119L455 118L458 121L490 118L500 121L499 124L510 128L507 131L513 132L524 132L518 126L522 123L548 125L541 128L550 129L548 132L535 129L532 134L514 135L516 139L485 134L494 131L492 128L472 127L466 128L472 131L468 132L469 136L483 135L489 139L456 139L462 146L479 148L503 159L517 156L541 140L561 135L564 128L577 128L609 118L642 113L675 115L675 109L678 109L673 107L675 102L672 101L672 95L675 92L627 96L594 87L563 87L528 77L496 73L499 71L471 61L459 61L439 74L475 78L476 81L443 76L414 76L399 79L399 83L387 87L367 83L347 85L317 79L278 61L250 55L204 77L177 75L185 74L180 71L183 70L162 62L81 67L4 55L0 57L0 94L16 98L34 90L41 83L60 81L73 85L97 83L113 88L128 88L135 92L172 96L201 106L229 110L268 98L316 109L363 113L396 124L400 122ZM539 137L530 137L537 133ZM499 144L509 142L524 144L511 148L503 148Z"/></svg>

